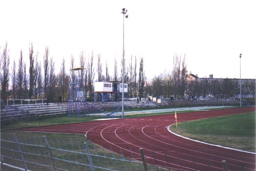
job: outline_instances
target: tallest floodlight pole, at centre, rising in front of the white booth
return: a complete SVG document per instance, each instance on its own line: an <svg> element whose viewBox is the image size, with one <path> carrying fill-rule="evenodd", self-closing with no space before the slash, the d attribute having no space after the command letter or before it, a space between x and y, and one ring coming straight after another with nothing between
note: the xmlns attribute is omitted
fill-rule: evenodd
<svg viewBox="0 0 256 171"><path fill-rule="evenodd" d="M125 11L125 8L122 9L123 14L123 68L122 68L122 118L124 117L124 71L125 71L125 65L124 65L124 58L125 58L125 18L128 18L127 9Z"/></svg>

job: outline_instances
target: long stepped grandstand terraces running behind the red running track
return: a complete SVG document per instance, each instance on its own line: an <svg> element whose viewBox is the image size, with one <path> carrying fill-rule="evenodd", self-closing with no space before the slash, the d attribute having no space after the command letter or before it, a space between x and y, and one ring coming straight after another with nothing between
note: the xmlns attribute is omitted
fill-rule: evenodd
<svg viewBox="0 0 256 171"><path fill-rule="evenodd" d="M79 103L79 104L78 104ZM58 115L79 110L84 116L99 115L106 117L119 116L119 108L122 102L78 102L76 103L50 103L47 104L22 104L1 105L0 120L24 119L35 116ZM132 108L157 108L157 107L194 107L194 106L236 106L240 104L239 99L215 99L215 100L161 100L161 103L152 101L124 101L125 109ZM254 99L242 100L242 105L255 105Z"/></svg>

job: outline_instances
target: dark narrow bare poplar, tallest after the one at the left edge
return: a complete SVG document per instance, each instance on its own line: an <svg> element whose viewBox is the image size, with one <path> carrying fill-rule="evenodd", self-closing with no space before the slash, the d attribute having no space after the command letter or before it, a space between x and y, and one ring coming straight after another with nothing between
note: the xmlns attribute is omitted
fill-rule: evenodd
<svg viewBox="0 0 256 171"><path fill-rule="evenodd" d="M33 71L34 71L34 50L33 50L33 44L31 43L31 46L29 44L29 99L32 98L33 96L33 84L34 84L34 75L33 75Z"/></svg>

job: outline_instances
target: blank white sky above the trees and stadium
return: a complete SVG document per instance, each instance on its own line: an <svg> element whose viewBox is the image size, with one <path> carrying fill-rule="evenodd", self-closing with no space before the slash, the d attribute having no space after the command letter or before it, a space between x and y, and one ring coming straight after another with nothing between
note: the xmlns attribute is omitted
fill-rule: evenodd
<svg viewBox="0 0 256 171"><path fill-rule="evenodd" d="M110 75L116 56L122 58L123 14L125 55L143 57L147 78L172 71L173 56L186 54L188 72L199 77L256 77L255 0L2 0L0 53L8 42L11 64L20 49L29 65L29 42L43 61L45 46L55 59L70 68L70 56L79 67L81 50L102 54L103 73ZM27 67L28 68L28 67ZM96 70L95 70L96 72ZM57 73L56 73L57 74Z"/></svg>

